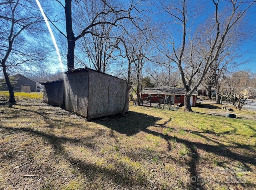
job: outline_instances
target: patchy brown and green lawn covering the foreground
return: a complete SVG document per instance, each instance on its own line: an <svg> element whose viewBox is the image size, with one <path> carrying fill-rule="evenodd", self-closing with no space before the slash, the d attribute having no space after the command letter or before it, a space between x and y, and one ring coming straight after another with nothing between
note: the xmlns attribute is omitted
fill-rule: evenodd
<svg viewBox="0 0 256 190"><path fill-rule="evenodd" d="M0 189L253 189L255 112L130 106L90 122L38 100L0 104Z"/></svg>

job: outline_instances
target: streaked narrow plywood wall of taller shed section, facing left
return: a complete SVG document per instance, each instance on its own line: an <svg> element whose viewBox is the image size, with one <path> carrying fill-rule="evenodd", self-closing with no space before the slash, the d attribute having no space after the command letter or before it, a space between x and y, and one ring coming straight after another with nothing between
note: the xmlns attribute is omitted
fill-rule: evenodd
<svg viewBox="0 0 256 190"><path fill-rule="evenodd" d="M66 110L87 118L88 108L88 71L67 74Z"/></svg>

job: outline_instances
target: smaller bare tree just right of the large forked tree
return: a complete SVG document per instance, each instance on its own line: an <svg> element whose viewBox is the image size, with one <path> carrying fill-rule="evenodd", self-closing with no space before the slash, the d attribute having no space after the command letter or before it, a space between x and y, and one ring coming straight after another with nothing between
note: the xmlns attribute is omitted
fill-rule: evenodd
<svg viewBox="0 0 256 190"><path fill-rule="evenodd" d="M243 41L254 35L250 32L250 27L242 28L244 25L236 25L227 36L226 41L222 44L220 54L216 60L210 66L208 73L206 73L202 84L208 90L208 98L211 98L212 87L216 89L216 104L221 104L220 84L219 81L223 78L223 75L227 71L232 71L239 65L247 63L249 60L243 58L242 51L239 47ZM248 30L249 29L249 30ZM211 40L211 36L208 37L208 42ZM201 73L200 73L201 74Z"/></svg>

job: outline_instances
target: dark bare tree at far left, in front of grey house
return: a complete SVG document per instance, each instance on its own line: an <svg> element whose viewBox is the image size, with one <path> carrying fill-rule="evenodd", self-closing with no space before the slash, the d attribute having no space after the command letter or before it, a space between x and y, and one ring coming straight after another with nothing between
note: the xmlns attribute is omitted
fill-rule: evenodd
<svg viewBox="0 0 256 190"><path fill-rule="evenodd" d="M24 65L40 61L44 49L36 39L44 27L33 0L3 0L0 3L0 66L9 89L9 102L15 102L8 72L24 69ZM33 36L36 38L33 39ZM30 39L32 39L30 41ZM32 43L33 41L33 43Z"/></svg>

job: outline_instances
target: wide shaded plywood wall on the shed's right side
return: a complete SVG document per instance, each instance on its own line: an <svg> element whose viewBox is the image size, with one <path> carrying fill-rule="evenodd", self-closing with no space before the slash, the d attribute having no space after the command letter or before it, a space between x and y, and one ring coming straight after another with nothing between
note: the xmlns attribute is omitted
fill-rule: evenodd
<svg viewBox="0 0 256 190"><path fill-rule="evenodd" d="M125 80L90 70L87 117L121 113L125 102L125 90Z"/></svg>

